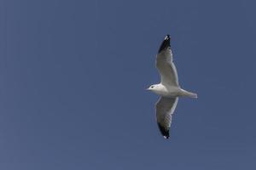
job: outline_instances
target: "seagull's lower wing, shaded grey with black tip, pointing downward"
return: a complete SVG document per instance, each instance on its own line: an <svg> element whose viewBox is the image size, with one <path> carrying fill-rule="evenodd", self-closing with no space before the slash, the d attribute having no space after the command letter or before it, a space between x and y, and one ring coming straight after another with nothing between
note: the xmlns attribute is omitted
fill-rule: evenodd
<svg viewBox="0 0 256 170"><path fill-rule="evenodd" d="M172 122L172 113L176 108L177 99L161 97L155 105L156 121L165 139L168 139L170 136L169 130Z"/></svg>

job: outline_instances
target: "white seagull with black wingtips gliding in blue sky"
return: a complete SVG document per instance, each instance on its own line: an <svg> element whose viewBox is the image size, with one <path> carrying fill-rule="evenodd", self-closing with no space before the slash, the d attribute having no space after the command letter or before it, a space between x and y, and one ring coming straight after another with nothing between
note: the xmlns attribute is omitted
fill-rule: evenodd
<svg viewBox="0 0 256 170"><path fill-rule="evenodd" d="M172 114L176 108L178 97L197 98L197 94L186 91L178 85L170 40L170 35L166 35L156 55L156 68L160 73L160 83L147 88L154 94L160 95L160 99L155 104L156 121L160 133L165 139L170 137Z"/></svg>

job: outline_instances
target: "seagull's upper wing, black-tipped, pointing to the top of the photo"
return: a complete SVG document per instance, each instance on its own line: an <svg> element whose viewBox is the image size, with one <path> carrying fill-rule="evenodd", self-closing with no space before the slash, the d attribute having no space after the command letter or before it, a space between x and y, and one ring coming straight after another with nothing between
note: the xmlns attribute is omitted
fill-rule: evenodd
<svg viewBox="0 0 256 170"><path fill-rule="evenodd" d="M170 36L167 35L160 45L156 55L156 68L161 77L161 83L166 86L178 86L177 70L172 62L172 50L170 45Z"/></svg>

